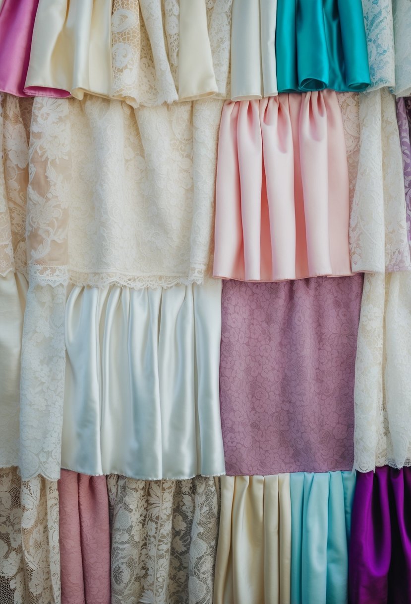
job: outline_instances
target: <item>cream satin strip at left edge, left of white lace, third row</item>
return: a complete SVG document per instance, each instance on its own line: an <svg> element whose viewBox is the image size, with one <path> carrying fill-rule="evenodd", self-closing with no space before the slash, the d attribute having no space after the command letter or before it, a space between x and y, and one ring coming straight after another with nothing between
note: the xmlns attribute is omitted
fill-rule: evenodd
<svg viewBox="0 0 411 604"><path fill-rule="evenodd" d="M26 278L0 277L0 467L19 463L20 353Z"/></svg>

